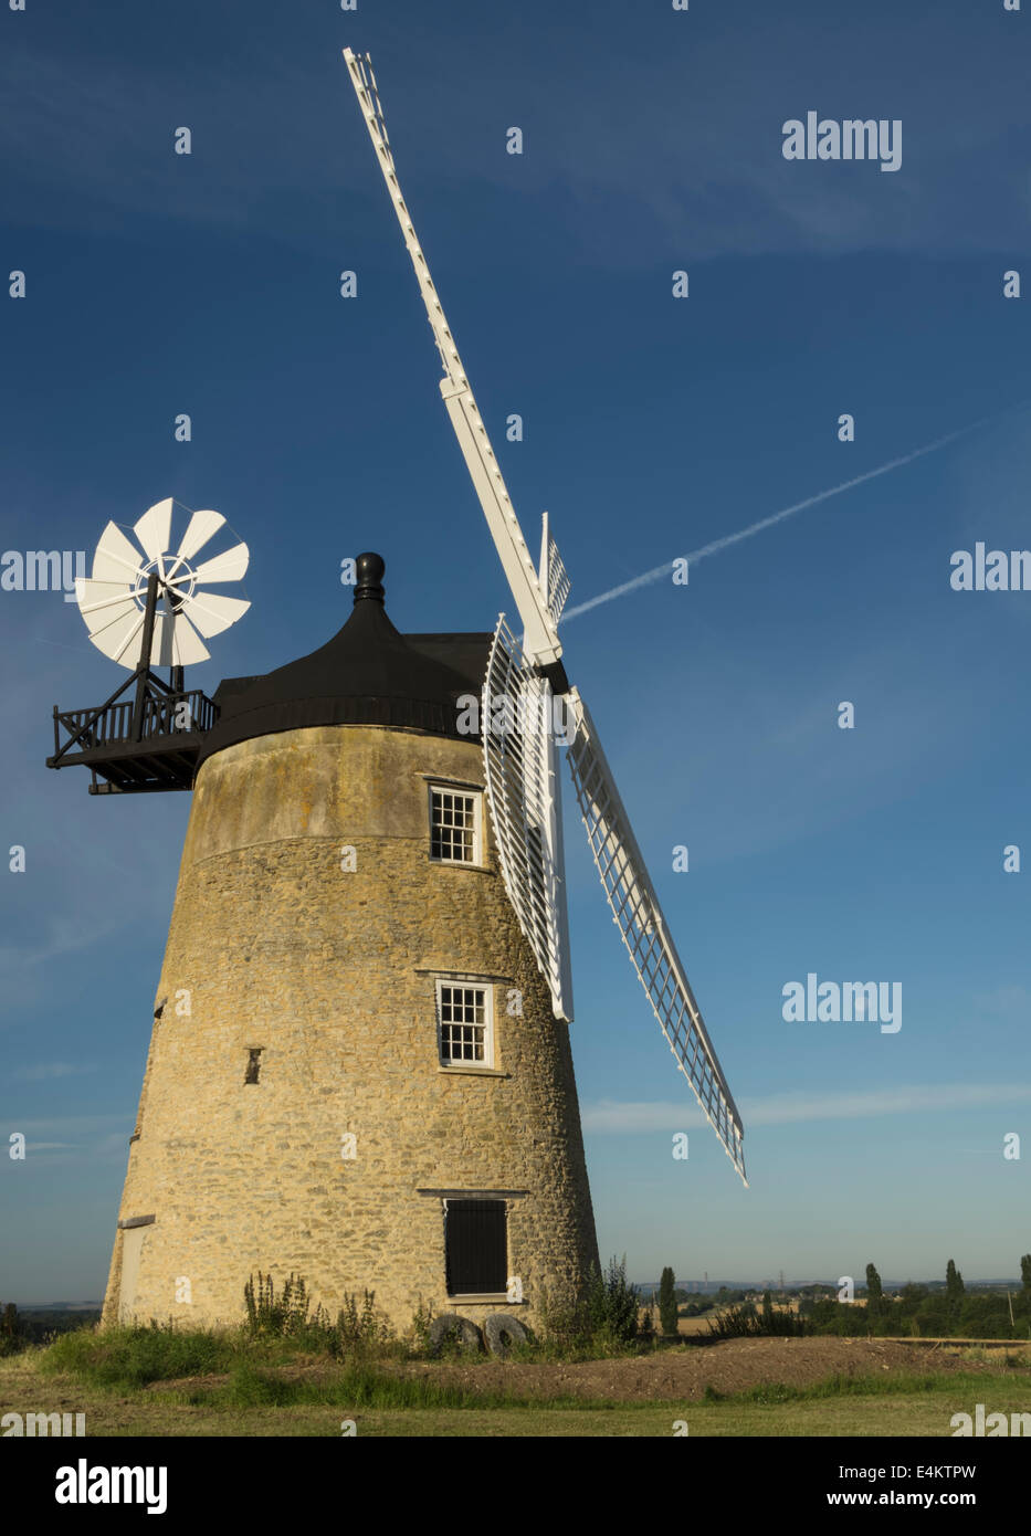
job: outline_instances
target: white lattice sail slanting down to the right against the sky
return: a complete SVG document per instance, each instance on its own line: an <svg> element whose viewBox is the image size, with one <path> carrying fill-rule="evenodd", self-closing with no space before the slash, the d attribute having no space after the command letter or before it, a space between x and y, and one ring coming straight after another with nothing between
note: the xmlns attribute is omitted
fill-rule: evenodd
<svg viewBox="0 0 1031 1536"><path fill-rule="evenodd" d="M569 693L576 734L567 753L576 800L616 926L676 1063L727 1155L745 1177L744 1127L701 1009L662 917L659 899L576 688Z"/></svg>

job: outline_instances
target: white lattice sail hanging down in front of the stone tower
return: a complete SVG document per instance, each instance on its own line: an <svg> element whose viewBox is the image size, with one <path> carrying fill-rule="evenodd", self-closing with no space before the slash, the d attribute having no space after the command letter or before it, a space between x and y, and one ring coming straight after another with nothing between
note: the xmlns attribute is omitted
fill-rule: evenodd
<svg viewBox="0 0 1031 1536"><path fill-rule="evenodd" d="M572 1023L553 699L501 614L481 696L487 805L501 877L552 992L552 1012Z"/></svg>

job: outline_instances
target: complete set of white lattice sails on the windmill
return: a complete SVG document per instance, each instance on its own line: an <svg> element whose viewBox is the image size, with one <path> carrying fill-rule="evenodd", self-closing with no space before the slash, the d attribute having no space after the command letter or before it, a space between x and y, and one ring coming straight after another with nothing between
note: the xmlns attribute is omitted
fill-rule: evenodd
<svg viewBox="0 0 1031 1536"><path fill-rule="evenodd" d="M541 561L535 570L401 195L372 60L350 48L344 49L344 60L441 356L441 396L522 627L521 636L516 636L504 614L498 619L482 690L484 771L509 899L550 988L555 1017L570 1021L573 1014L556 765L556 734L561 734L567 742L576 800L615 923L678 1068L745 1180L741 1115L668 932L598 728L579 691L570 685L561 659L558 624L570 582L549 533L547 513ZM553 725L558 700L562 700L565 714L559 733ZM498 719L501 730L493 728Z"/></svg>

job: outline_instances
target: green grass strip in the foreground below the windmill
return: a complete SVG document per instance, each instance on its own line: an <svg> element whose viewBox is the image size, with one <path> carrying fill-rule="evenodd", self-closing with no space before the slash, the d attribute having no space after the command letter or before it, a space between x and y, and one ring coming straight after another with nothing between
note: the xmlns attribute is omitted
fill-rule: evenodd
<svg viewBox="0 0 1031 1536"><path fill-rule="evenodd" d="M676 1421L691 1436L948 1436L951 1415L976 1402L1031 1409L1026 1359L994 1353L991 1362L1002 1370L891 1370L725 1396L710 1385L701 1402L618 1402L479 1392L478 1373L459 1385L433 1369L336 1361L241 1332L83 1329L2 1359L0 1405L85 1412L89 1435L115 1436L338 1436L344 1421L358 1435L403 1438L673 1436Z"/></svg>

